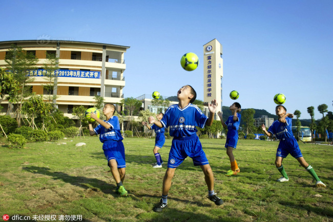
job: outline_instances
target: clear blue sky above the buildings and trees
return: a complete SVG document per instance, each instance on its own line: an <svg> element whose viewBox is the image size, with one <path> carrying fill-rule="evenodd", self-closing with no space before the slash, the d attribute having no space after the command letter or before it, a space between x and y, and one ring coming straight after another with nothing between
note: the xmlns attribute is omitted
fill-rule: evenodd
<svg viewBox="0 0 333 222"><path fill-rule="evenodd" d="M203 60L203 45L223 47L223 106L275 114L274 95L289 113L321 104L333 111L333 1L1 1L0 41L82 41L130 46L124 55L124 97L158 91L175 96L191 85L203 100L203 66L185 71L187 52ZM218 100L220 103L220 100Z"/></svg>

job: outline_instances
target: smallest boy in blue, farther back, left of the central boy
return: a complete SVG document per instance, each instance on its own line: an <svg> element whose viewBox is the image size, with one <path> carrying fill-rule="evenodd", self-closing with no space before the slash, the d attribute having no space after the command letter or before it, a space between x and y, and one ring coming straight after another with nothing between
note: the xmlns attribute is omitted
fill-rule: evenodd
<svg viewBox="0 0 333 222"><path fill-rule="evenodd" d="M163 118L163 113L158 113L156 115L157 120L161 120ZM161 149L165 143L165 136L164 136L164 132L165 129L164 127L159 128L158 126L156 126L155 124L153 124L153 126L149 126L147 122L142 122L141 123L143 126L147 126L148 129L150 130L155 130L155 147L154 147L154 155L156 158L156 164L153 166L153 168L161 168L162 164L163 164L163 160L161 158L161 155L159 154L159 149Z"/></svg>

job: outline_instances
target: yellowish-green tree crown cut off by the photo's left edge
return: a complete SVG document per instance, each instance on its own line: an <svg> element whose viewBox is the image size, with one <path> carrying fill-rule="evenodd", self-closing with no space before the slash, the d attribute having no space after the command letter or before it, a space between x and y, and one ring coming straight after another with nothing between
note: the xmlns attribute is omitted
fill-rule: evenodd
<svg viewBox="0 0 333 222"><path fill-rule="evenodd" d="M2 102L6 99L8 99L9 103L15 103L15 98L17 98L18 90L19 83L14 78L13 74L10 72L6 72L0 67L0 107Z"/></svg>

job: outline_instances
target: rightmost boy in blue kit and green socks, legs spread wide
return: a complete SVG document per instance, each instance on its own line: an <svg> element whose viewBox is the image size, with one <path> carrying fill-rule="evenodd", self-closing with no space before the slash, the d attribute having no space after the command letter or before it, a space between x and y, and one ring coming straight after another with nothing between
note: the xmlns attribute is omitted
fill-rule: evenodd
<svg viewBox="0 0 333 222"><path fill-rule="evenodd" d="M326 185L318 178L315 170L308 163L306 163L305 159L303 158L297 140L294 137L292 131L292 118L294 117L294 114L287 113L287 109L281 105L278 105L275 108L275 112L278 115L278 120L273 122L268 131L266 130L264 124L261 125L261 129L267 136L271 137L273 134L275 134L277 139L280 139L280 143L276 152L275 165L282 174L282 177L277 181L289 181L289 178L284 171L282 160L290 153L290 155L296 158L301 166L304 167L306 171L314 177L314 179L316 179L316 187L326 187Z"/></svg>

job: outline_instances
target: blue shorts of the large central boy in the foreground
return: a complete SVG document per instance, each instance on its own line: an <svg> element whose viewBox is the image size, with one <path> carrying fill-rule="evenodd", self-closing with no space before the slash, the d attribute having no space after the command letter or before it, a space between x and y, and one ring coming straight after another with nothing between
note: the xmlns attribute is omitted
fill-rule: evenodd
<svg viewBox="0 0 333 222"><path fill-rule="evenodd" d="M188 156L192 158L194 166L209 164L206 154L202 150L199 137L196 134L184 138L173 138L168 167L179 167Z"/></svg>

